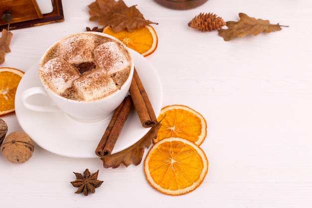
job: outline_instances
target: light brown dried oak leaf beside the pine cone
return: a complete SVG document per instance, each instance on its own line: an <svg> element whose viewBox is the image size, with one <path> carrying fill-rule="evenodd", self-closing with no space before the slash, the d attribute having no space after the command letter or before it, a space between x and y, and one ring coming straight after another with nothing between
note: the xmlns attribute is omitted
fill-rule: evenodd
<svg viewBox="0 0 312 208"><path fill-rule="evenodd" d="M249 17L245 13L239 13L239 21L227 21L227 29L220 29L219 35L225 41L229 41L235 37L244 37L248 34L258 35L262 31L274 32L281 30L279 24L271 24L269 20L256 19Z"/></svg>

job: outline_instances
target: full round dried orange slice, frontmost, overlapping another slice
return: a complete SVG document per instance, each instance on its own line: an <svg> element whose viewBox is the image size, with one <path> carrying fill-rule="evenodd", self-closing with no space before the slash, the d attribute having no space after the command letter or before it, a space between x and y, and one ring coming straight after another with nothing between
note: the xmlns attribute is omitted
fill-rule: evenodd
<svg viewBox="0 0 312 208"><path fill-rule="evenodd" d="M184 195L194 191L208 172L204 151L181 138L157 142L147 154L144 172L148 182L166 195Z"/></svg>

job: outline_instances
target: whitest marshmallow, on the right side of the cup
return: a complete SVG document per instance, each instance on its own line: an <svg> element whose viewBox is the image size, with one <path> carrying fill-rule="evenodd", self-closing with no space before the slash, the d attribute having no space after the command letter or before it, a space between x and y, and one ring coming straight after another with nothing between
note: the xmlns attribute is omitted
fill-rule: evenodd
<svg viewBox="0 0 312 208"><path fill-rule="evenodd" d="M121 71L130 64L120 46L112 41L96 47L94 59L100 68L104 68L109 74Z"/></svg>

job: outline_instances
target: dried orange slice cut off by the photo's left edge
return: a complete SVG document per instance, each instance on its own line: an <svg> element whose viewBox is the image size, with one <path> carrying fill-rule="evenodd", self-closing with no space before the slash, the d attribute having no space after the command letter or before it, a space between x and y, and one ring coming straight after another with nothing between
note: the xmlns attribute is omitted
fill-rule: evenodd
<svg viewBox="0 0 312 208"><path fill-rule="evenodd" d="M24 72L3 67L0 68L0 116L15 111L14 100L18 83Z"/></svg>

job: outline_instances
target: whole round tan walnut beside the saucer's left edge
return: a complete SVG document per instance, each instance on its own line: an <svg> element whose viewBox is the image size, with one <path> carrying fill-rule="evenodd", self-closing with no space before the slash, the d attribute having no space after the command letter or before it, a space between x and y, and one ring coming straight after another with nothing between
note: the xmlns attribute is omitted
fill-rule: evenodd
<svg viewBox="0 0 312 208"><path fill-rule="evenodd" d="M24 132L11 132L0 146L3 157L11 163L24 163L34 151L30 137Z"/></svg>

